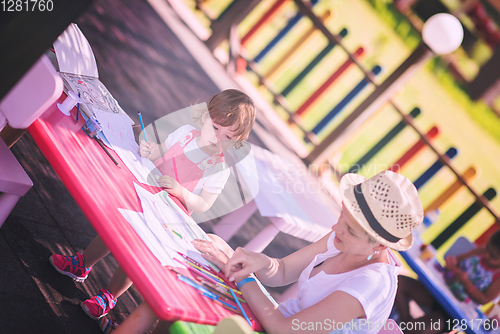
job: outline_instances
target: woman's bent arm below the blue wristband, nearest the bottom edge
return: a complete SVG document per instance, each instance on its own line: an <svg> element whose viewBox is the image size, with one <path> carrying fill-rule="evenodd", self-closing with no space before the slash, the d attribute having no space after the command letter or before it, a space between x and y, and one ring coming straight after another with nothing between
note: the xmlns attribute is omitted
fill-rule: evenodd
<svg viewBox="0 0 500 334"><path fill-rule="evenodd" d="M289 318L285 318L280 310L269 301L257 283L250 282L243 285L241 292L260 324L269 334L328 333L337 329L335 327L337 324L345 324L353 319L365 317L359 301L343 291L335 291L320 302ZM321 323L321 327L318 323ZM311 324L314 329L310 327Z"/></svg>

